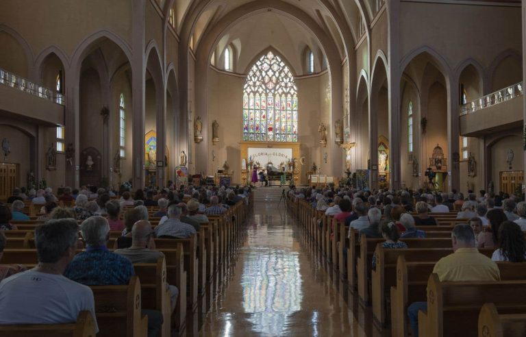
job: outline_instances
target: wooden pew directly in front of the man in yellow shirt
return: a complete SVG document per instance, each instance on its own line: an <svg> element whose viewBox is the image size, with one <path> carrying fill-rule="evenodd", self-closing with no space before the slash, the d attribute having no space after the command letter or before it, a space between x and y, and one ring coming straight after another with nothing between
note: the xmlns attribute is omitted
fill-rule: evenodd
<svg viewBox="0 0 526 337"><path fill-rule="evenodd" d="M480 250L490 256L492 249ZM426 300L426 288L429 275L436 261L406 261L405 255L397 258L397 283L390 289L391 299L391 335L408 336L408 306L413 302ZM526 279L526 263L497 262L502 280Z"/></svg>

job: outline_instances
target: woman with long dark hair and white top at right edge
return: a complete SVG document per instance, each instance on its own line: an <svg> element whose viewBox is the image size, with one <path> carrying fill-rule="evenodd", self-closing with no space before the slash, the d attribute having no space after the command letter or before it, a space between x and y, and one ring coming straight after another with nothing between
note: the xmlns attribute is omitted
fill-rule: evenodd
<svg viewBox="0 0 526 337"><path fill-rule="evenodd" d="M504 221L499 227L499 249L491 256L493 261L526 262L526 240L516 223Z"/></svg>

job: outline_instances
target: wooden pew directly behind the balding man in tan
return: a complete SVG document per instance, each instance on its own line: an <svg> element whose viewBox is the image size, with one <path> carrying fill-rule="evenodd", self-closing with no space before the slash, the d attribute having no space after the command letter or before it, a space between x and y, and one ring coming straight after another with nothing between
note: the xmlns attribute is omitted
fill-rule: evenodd
<svg viewBox="0 0 526 337"><path fill-rule="evenodd" d="M163 317L161 336L170 337L172 311L166 283L166 261L161 257L156 263L136 263L134 270L140 279L142 309L160 311Z"/></svg>

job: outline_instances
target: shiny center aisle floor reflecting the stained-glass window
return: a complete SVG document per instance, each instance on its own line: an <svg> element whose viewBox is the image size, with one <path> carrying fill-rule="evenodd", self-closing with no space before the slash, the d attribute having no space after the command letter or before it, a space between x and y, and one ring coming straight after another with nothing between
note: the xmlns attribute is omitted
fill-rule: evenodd
<svg viewBox="0 0 526 337"><path fill-rule="evenodd" d="M366 336L301 242L281 188L257 188L247 235L200 336Z"/></svg>

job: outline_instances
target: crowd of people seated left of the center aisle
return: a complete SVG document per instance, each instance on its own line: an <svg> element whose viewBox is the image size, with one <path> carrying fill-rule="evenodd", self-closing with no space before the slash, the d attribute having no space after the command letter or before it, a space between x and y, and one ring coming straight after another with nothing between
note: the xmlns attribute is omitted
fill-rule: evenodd
<svg viewBox="0 0 526 337"><path fill-rule="evenodd" d="M249 193L249 188L190 185L136 190L132 195L129 190L115 193L92 186L62 188L55 196L51 188L28 195L16 188L8 199L11 209L0 205L0 229L16 229L12 221L29 220L24 202L41 205L42 224L35 230L38 264L29 271L21 265L0 265L0 325L71 323L82 310L92 312L95 320L89 286L128 284L134 263L155 263L164 256L155 250L153 238L189 238L201 223L208 223L209 215L223 214L239 201L248 204ZM60 201L64 207L58 206ZM148 206L158 207L153 213L160 219L155 227ZM110 231L121 232L114 251L107 246ZM5 243L0 232L0 259ZM85 249L77 253L79 248ZM179 290L168 288L173 311ZM148 315L148 336L157 336L161 312L142 313Z"/></svg>

